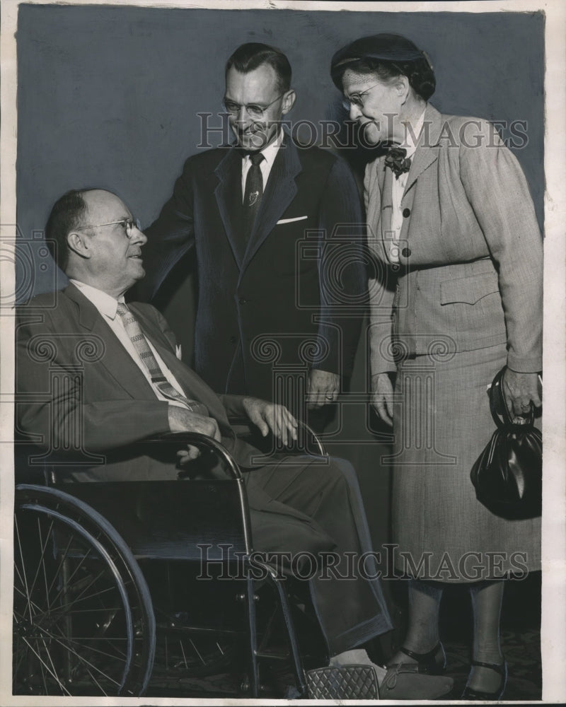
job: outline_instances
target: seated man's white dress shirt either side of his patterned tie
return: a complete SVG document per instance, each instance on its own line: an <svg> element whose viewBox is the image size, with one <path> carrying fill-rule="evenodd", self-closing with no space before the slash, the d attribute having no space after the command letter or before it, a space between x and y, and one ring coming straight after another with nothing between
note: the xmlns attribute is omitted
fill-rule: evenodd
<svg viewBox="0 0 566 707"><path fill-rule="evenodd" d="M122 322L122 317L117 314L117 308L118 308L118 303L124 303L124 298L120 297L119 300L115 300L115 298L111 297L107 293L103 292L102 290L99 290L96 287L93 287L91 285L86 285L83 282L79 282L79 280L73 280L71 279L71 282L79 288L81 293L88 299L90 300L93 305L96 307L98 312L100 312L100 315L103 317L105 322L108 324L110 329L112 329L112 332L114 332L117 336L117 339L120 341L120 344L124 346L126 351L128 352L130 358L132 358L132 361L136 364L136 366L141 370L141 373L144 374L144 376L147 379L147 382L149 382L149 385L153 388L156 397L159 400L163 400L163 402L168 402L171 405L177 405L178 407L185 407L182 402L173 400L170 398L165 397L162 393L161 390L153 383L151 382L151 375L149 375L149 370L145 363L141 361L141 358L139 358L139 354L137 353L136 347L134 344L132 344L132 341L129 339L128 334L126 333L126 329L124 328L124 324ZM183 388L179 385L178 380L175 378L173 373L171 373L171 370L168 369L166 364L163 362L163 358L159 356L157 351L155 350L154 346L151 344L151 341L147 339L147 345L151 349L152 353L155 356L155 359L159 365L159 368L161 368L161 371L163 372L163 375L167 378L167 380L173 385L175 390L180 392L181 395L185 395L185 392L183 391Z"/></svg>

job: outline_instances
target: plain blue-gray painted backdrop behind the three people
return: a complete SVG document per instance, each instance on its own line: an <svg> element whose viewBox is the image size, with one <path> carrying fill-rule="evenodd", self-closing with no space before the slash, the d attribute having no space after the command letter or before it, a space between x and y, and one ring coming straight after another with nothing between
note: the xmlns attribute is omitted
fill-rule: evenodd
<svg viewBox="0 0 566 707"><path fill-rule="evenodd" d="M224 63L243 42L276 45L294 67L295 121L337 115L328 67L336 49L378 32L402 33L429 54L432 103L447 113L525 121L516 150L543 216L543 32L541 13L388 13L20 6L18 23L18 226L41 230L67 189L111 189L149 224L200 141L197 112L220 110ZM503 131L504 136L509 136ZM40 238L40 234L37 234ZM32 273L18 267L20 298L54 288L55 269L37 244ZM45 249L44 249L45 250ZM25 250L22 251L25 253ZM180 263L161 308L192 349L190 258ZM366 390L364 346L352 388ZM365 431L366 409L347 406L332 452L354 462L374 542L388 537L384 448ZM371 421L371 420L370 420Z"/></svg>

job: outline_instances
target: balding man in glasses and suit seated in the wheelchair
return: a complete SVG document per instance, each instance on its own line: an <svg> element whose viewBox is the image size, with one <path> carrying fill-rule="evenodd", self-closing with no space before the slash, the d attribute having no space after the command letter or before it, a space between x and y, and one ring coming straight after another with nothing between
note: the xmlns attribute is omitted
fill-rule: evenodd
<svg viewBox="0 0 566 707"><path fill-rule="evenodd" d="M383 668L361 648L391 630L391 621L379 580L343 576L348 554L371 551L351 465L309 456L277 464L264 457L258 464L260 452L236 437L229 416L247 416L284 444L296 439L294 417L262 400L216 395L175 356L160 313L125 304L125 293L144 276L146 243L125 204L102 189L68 192L54 204L45 236L70 283L54 306L50 293L19 308L19 430L42 436L56 456L70 449L81 457L72 481L177 479L180 468L190 476L197 448L179 450L175 467L133 445L187 431L221 442L246 472L254 549L291 556L333 551L339 560L336 573L309 579L330 665L345 672L349 665L371 665L381 699L446 694L448 677L419 674L415 665Z"/></svg>

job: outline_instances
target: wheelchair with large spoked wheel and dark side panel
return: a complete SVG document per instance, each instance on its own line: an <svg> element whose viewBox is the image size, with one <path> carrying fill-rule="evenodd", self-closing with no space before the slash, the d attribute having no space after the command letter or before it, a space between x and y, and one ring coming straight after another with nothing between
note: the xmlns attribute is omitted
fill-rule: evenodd
<svg viewBox="0 0 566 707"><path fill-rule="evenodd" d="M306 425L301 439L325 455ZM322 642L311 648L320 629L301 588L253 558L238 465L195 433L150 442L195 445L224 475L60 483L51 473L46 484L16 485L13 694L308 696L304 658L320 665ZM214 620L202 621L211 602ZM211 694L202 685L219 673L228 686Z"/></svg>

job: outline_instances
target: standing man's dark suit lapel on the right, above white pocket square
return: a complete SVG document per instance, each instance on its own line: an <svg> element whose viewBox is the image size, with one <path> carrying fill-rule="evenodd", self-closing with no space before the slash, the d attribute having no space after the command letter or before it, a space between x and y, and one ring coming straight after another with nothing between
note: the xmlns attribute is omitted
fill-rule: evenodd
<svg viewBox="0 0 566 707"><path fill-rule="evenodd" d="M291 138L285 135L263 192L260 210L255 218L246 255L243 258L242 269L253 258L255 252L275 228L275 224L296 196L295 177L301 172L301 169L299 151Z"/></svg>

